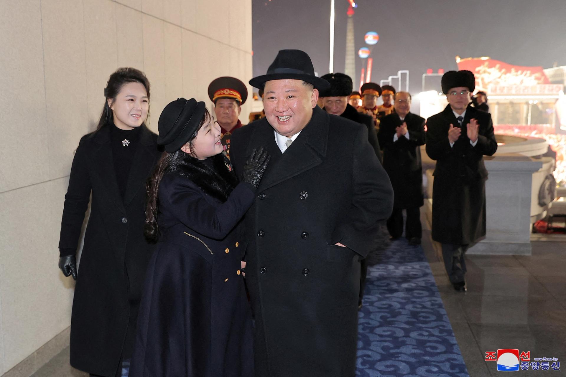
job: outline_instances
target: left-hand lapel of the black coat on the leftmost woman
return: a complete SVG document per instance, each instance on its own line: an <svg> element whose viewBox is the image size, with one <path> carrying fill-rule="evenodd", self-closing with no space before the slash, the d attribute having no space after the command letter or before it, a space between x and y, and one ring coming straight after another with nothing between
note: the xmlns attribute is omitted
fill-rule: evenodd
<svg viewBox="0 0 566 377"><path fill-rule="evenodd" d="M118 189L114 161L112 159L112 146L110 146L110 129L103 127L95 135L97 148L92 151L91 159L95 161L95 171L100 180L106 185L110 198L114 204L126 215L126 209Z"/></svg>

